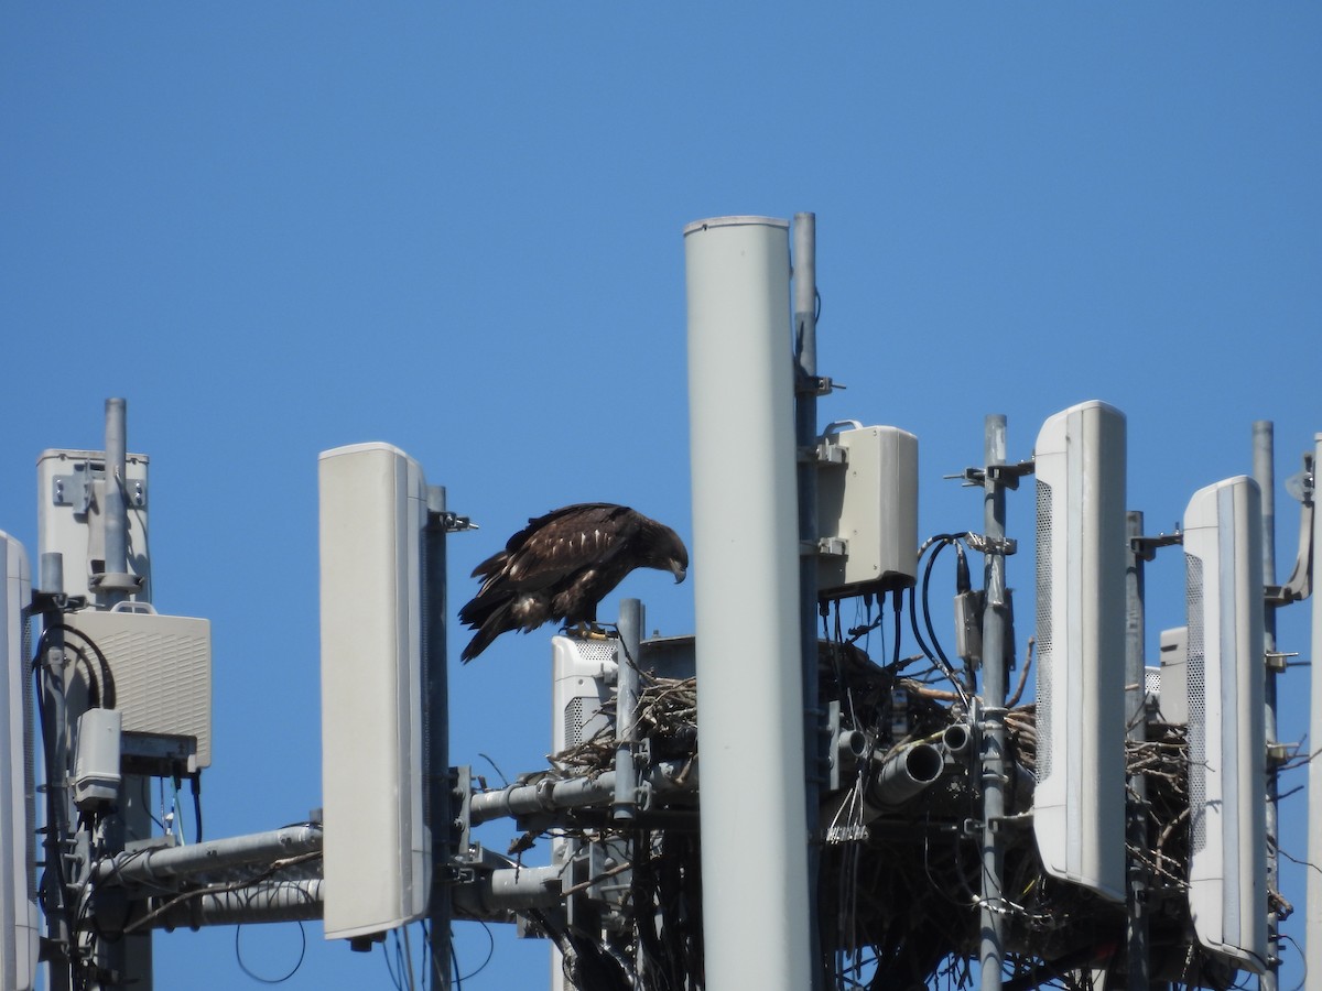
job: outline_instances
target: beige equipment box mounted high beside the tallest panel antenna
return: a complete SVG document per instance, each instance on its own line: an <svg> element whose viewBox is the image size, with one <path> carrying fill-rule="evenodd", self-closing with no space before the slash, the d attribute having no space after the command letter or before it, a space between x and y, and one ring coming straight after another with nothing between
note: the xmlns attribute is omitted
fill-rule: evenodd
<svg viewBox="0 0 1322 991"><path fill-rule="evenodd" d="M829 433L843 462L818 461L817 536L843 554L821 554L817 593L839 599L906 588L917 571L917 437L898 427Z"/></svg>

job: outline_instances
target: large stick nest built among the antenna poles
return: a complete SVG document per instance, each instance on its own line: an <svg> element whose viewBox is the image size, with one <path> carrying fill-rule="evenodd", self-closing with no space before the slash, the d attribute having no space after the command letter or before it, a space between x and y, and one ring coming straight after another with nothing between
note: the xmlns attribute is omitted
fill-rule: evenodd
<svg viewBox="0 0 1322 991"><path fill-rule="evenodd" d="M824 645L821 704L838 706L841 729L869 741L866 756L854 766L833 766L832 786L822 789L817 899L828 973L857 987L917 987L941 978L964 986L981 916L990 910L1006 921L1006 987L1069 987L1072 974L1095 967L1124 974L1124 906L1048 876L1038 856L1034 704L1014 706L1005 716L1014 781L999 831L1003 888L995 904L981 895L976 736L968 752L948 756L939 780L903 801L879 805L869 791L892 751L937 740L951 727L972 729L962 691L902 677L902 669L880 667L850 645ZM636 739L652 760L697 760L697 703L693 678L642 675ZM1188 950L1187 733L1153 721L1146 736L1126 745L1126 764L1133 809L1144 817L1142 840L1129 850L1145 867L1153 976L1196 974L1215 987L1222 983L1210 976L1215 965ZM551 773L600 774L615 766L616 747L613 729L603 729L554 754Z"/></svg>

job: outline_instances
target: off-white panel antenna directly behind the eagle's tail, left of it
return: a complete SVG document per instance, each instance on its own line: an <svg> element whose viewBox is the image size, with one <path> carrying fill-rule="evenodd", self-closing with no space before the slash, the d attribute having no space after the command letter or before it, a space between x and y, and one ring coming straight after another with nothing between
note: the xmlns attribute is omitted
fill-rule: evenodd
<svg viewBox="0 0 1322 991"><path fill-rule="evenodd" d="M427 909L423 588L427 484L389 444L319 459L325 936Z"/></svg>

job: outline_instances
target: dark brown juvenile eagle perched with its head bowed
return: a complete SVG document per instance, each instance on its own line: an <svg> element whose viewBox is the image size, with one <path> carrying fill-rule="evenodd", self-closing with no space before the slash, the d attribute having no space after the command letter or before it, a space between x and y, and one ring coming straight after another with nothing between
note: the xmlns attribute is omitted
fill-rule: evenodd
<svg viewBox="0 0 1322 991"><path fill-rule="evenodd" d="M680 583L689 552L670 527L609 502L529 519L504 551L473 568L483 587L459 618L477 633L460 658L472 661L506 630L595 622L598 603L635 568L669 571Z"/></svg>

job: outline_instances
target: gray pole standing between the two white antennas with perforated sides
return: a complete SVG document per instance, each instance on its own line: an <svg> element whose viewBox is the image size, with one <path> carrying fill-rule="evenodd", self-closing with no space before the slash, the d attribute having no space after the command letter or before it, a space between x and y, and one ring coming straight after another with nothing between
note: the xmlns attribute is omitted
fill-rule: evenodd
<svg viewBox="0 0 1322 991"><path fill-rule="evenodd" d="M1125 536L1129 539L1129 562L1125 568L1125 741L1129 747L1147 740L1147 690L1144 636L1145 551L1138 543L1144 535L1144 514L1125 514ZM1142 772L1130 772L1129 810L1125 828L1130 850L1147 848L1147 781ZM1128 925L1125 942L1129 950L1129 991L1147 991L1147 868L1133 854L1125 858L1128 873Z"/></svg>

